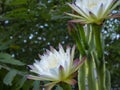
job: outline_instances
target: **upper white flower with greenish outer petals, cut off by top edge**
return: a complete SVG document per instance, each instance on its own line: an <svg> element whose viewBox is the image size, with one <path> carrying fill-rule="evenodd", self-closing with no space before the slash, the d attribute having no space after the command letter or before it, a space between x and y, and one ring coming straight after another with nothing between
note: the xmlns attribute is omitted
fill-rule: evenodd
<svg viewBox="0 0 120 90"><path fill-rule="evenodd" d="M120 5L120 0L75 0L68 5L77 14L66 14L79 19L82 23L101 24L104 19L111 17L110 13Z"/></svg>

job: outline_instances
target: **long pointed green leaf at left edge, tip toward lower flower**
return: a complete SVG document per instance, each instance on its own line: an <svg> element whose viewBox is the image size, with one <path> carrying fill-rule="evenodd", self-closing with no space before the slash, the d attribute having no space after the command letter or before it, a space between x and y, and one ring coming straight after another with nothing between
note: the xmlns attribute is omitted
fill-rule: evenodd
<svg viewBox="0 0 120 90"><path fill-rule="evenodd" d="M11 55L6 54L6 53L0 53L0 62L12 64L12 65L18 65L18 66L23 66L23 65L25 65L25 64L22 63L21 61L16 60L16 59L13 59L13 58L11 57Z"/></svg>

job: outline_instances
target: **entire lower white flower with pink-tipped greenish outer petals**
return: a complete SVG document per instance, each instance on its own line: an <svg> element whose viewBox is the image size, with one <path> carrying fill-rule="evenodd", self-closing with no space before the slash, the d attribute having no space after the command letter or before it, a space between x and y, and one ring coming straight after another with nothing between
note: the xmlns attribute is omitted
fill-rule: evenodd
<svg viewBox="0 0 120 90"><path fill-rule="evenodd" d="M66 51L64 51L63 47L59 45L58 51L54 48L46 51L44 55L40 56L40 61L35 61L33 65L28 65L31 68L30 71L38 75L28 75L27 78L51 81L45 85L47 90L50 90L59 82L74 85L76 83L74 79L75 73L84 63L85 57L82 60L73 60L75 46L72 49L67 47Z"/></svg>

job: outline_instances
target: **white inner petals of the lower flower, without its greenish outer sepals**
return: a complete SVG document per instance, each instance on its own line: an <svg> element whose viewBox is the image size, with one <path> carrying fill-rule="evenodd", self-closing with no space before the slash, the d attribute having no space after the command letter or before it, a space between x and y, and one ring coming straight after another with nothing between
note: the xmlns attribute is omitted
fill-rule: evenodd
<svg viewBox="0 0 120 90"><path fill-rule="evenodd" d="M69 47L65 51L63 47L59 45L58 51L54 48L52 48L51 50L52 51L47 50L47 53L41 55L41 60L36 60L33 66L30 66L30 71L37 73L38 77L48 77L50 79L59 81L59 67L62 66L65 70L66 74L63 77L69 76L70 70L72 68L70 67L72 66L71 61L73 61L71 60L73 59L73 56L71 58L71 48ZM38 77L33 77L33 79L39 79Z"/></svg>

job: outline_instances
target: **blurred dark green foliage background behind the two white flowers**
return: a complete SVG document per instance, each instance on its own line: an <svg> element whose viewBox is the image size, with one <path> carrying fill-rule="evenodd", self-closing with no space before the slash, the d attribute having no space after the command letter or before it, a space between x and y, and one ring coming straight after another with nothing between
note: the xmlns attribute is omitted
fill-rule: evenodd
<svg viewBox="0 0 120 90"><path fill-rule="evenodd" d="M50 46L75 43L67 29L72 18L64 14L71 12L71 1L0 0L0 90L39 90L43 82L25 78L27 65ZM120 14L120 6L114 13ZM103 35L112 88L120 90L120 19L106 20Z"/></svg>

